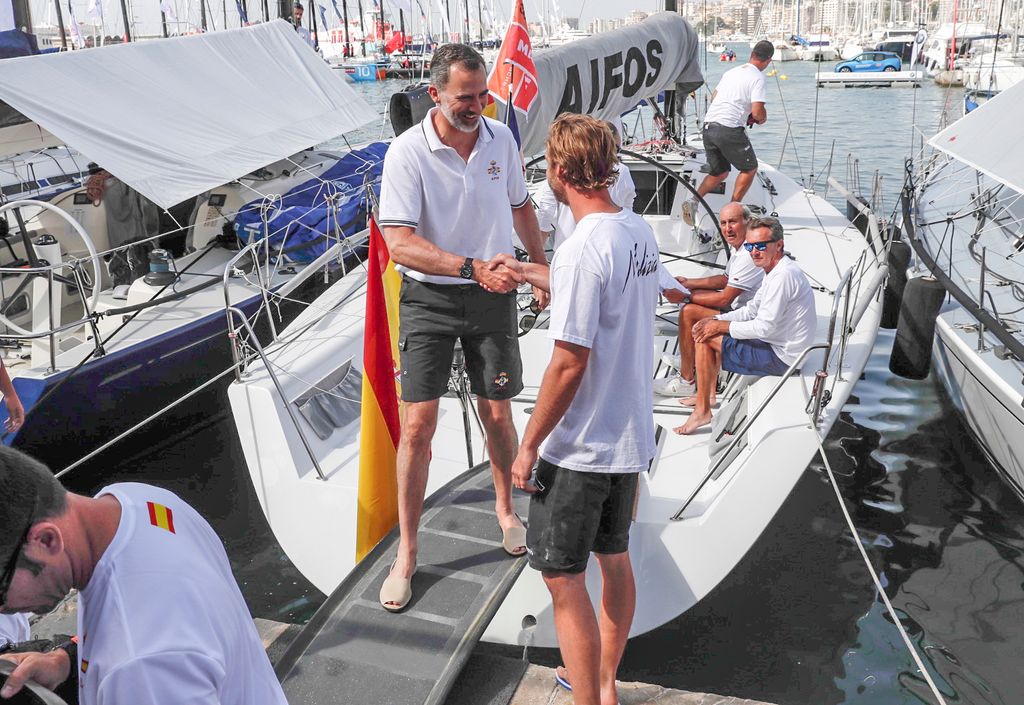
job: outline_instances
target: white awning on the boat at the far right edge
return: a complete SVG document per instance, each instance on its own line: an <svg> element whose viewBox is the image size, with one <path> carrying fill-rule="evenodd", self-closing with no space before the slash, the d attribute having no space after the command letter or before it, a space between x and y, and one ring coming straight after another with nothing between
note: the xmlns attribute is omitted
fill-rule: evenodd
<svg viewBox="0 0 1024 705"><path fill-rule="evenodd" d="M928 140L996 181L1024 194L1024 82L968 113Z"/></svg>

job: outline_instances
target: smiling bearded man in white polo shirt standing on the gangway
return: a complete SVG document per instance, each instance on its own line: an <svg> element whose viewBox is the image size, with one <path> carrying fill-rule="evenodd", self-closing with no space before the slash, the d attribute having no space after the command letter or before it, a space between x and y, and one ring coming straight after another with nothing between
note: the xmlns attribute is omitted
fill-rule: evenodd
<svg viewBox="0 0 1024 705"><path fill-rule="evenodd" d="M513 229L530 260L547 263L515 138L481 115L487 97L483 57L465 44L440 47L430 60L429 91L437 107L391 143L381 180L379 222L404 275L398 333L401 538L380 594L393 612L412 597L430 444L457 340L486 434L502 544L512 555L526 550L511 478L516 431L510 400L522 389L515 303L521 276L487 264L512 252ZM542 303L545 297L539 294Z"/></svg>

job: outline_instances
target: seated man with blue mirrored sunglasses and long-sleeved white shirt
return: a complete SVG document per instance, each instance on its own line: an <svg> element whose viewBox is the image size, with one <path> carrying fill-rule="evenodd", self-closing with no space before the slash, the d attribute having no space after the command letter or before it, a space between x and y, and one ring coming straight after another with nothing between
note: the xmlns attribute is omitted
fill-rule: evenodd
<svg viewBox="0 0 1024 705"><path fill-rule="evenodd" d="M782 224L776 218L752 218L743 247L764 269L765 279L746 305L698 321L697 390L683 400L693 412L676 428L687 436L711 423L718 372L781 376L808 345L817 327L814 292L795 261L783 251Z"/></svg>

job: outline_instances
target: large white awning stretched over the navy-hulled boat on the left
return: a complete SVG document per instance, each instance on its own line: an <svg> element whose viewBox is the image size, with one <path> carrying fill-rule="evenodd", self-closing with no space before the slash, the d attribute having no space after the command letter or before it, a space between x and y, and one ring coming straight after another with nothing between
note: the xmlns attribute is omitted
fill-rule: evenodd
<svg viewBox="0 0 1024 705"><path fill-rule="evenodd" d="M164 208L378 117L280 19L6 59L0 99Z"/></svg>

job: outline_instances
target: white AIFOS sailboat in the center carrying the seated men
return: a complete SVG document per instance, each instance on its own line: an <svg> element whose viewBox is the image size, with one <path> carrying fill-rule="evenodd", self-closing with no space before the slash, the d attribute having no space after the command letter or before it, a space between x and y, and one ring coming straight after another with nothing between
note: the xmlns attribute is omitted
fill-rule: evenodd
<svg viewBox="0 0 1024 705"><path fill-rule="evenodd" d="M597 83L592 88L590 72L597 71L594 80L600 79L603 57L632 46L655 46L658 51L657 64L646 65L649 73L643 92L614 85L602 89ZM653 96L663 89L688 94L702 83L697 52L693 30L680 15L669 12L538 52L541 96L524 121L526 154L543 148L546 125L563 95L578 96L579 102L570 110L591 110L596 117L610 118L636 106L641 95L655 105ZM595 89L606 98L600 108L597 95L591 93ZM634 210L654 231L672 274L701 276L719 271L728 255L715 214L726 197L709 195L695 226L680 217L682 202L691 198L692 184L700 178L703 149L699 142L684 143L672 135L655 141L656 153L642 148L633 152L628 144L623 152L638 190ZM542 164L537 160L528 164L536 188L544 178ZM725 193L731 193L732 181L730 177ZM786 227L786 249L819 285L815 293L818 342L805 350L801 364L784 377L731 378L720 397L724 401L717 413L719 424L710 434L677 436L672 429L683 422L686 411L675 400L651 400L650 413L658 429L657 455L641 478L632 534L639 589L633 634L654 629L693 607L742 558L818 451L820 439L860 376L877 334L886 241L870 210L858 203L858 222L863 229L858 230L819 195L767 164L760 166L748 202L779 214ZM314 618L315 629L329 628L349 608L365 609L357 607L360 596L376 594L374 585L379 586L393 555L394 532L374 549L369 567L366 562L356 567L358 389L365 335L372 334L364 325L366 282L364 269L353 271L283 331L279 343L258 356L243 356L228 392L253 488L274 535L314 585L327 593L339 590ZM524 294L519 344L525 388L512 401L520 432L551 352L547 317L529 312L527 301L528 294ZM674 351L674 312L669 304L658 309L656 336L650 342L653 360ZM656 375L668 373L659 366ZM440 400L427 486L431 509L424 517L420 539L425 558L431 551L440 555L456 544L473 545L456 536L460 522L467 527L487 525L473 530L482 532L473 537L479 550L490 551L488 546L499 545L487 533L497 535L490 526L493 517L480 509L467 509L458 520L436 514L461 503L480 505L480 483L489 478L485 444L473 418L474 405L464 375L457 361L450 393ZM314 537L330 537L331 550L323 550L317 540L311 540ZM482 554L479 561L484 561ZM425 559L414 580L415 599L421 607L450 606L463 594L464 583L466 590L479 590L476 559L436 567L429 563ZM589 579L598 578L592 571ZM353 602L344 599L345 590L355 590L349 593ZM507 596L494 608L496 614L483 638L555 646L550 597L536 572L525 571L514 579ZM485 623L478 625L481 630ZM327 645L335 637L325 632L324 638ZM315 650L316 672L321 668L331 671L332 666L324 661L333 658L330 651L328 646Z"/></svg>

